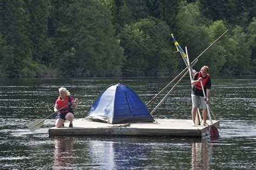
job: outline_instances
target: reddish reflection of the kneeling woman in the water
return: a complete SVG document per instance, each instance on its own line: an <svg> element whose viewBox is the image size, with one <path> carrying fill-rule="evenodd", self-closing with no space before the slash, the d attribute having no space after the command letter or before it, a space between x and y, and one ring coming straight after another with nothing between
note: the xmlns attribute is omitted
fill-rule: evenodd
<svg viewBox="0 0 256 170"><path fill-rule="evenodd" d="M73 162L73 139L55 138L53 168L69 167Z"/></svg>

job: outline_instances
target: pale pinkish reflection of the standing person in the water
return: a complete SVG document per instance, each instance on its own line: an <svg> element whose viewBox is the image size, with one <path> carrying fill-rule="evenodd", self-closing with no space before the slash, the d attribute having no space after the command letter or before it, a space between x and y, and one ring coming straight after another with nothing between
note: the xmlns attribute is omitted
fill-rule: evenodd
<svg viewBox="0 0 256 170"><path fill-rule="evenodd" d="M206 138L201 139L201 142L192 142L192 169L208 169L208 155ZM211 156L211 155L210 155Z"/></svg>

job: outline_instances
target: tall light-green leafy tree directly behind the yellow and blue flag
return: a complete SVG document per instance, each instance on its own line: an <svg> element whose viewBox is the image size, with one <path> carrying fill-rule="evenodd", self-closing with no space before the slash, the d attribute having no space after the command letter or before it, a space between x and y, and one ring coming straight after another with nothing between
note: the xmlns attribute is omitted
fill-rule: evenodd
<svg viewBox="0 0 256 170"><path fill-rule="evenodd" d="M173 32L174 37L177 38L184 50L187 46L188 55L192 61L209 44L210 35L206 30L206 21L201 16L198 3L184 4L177 17L177 24L181 30L178 34ZM180 56L179 61L182 67L186 66ZM200 66L196 66L196 68L200 69Z"/></svg>

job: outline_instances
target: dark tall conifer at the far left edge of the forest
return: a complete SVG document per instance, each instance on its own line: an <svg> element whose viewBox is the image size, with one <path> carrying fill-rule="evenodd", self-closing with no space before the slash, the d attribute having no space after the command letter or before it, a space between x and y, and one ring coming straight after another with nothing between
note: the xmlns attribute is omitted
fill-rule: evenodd
<svg viewBox="0 0 256 170"><path fill-rule="evenodd" d="M26 33L28 15L24 10L24 2L3 1L0 15L0 30L4 39L4 47L10 52L3 53L1 58L6 62L2 72L8 77L17 77L22 68L22 59L31 57L30 40ZM3 63L4 64L4 63ZM8 64L8 65L7 65Z"/></svg>

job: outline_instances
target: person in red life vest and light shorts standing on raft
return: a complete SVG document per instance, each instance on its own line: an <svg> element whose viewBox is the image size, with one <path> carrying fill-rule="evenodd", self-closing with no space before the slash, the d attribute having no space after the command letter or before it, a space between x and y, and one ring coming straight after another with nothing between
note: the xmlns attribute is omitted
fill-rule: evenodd
<svg viewBox="0 0 256 170"><path fill-rule="evenodd" d="M210 94L211 94L211 78L209 72L209 67L208 66L203 66L199 72L194 74L194 77L191 81L191 84L193 85L193 90L192 90L192 121L193 124L192 126L196 126L195 120L196 120L196 113L197 113L197 108L200 102L200 106L203 108L203 125L207 126L208 124L206 123L206 117L207 117L207 107L206 104L209 104L210 101ZM201 87L200 81L203 81L203 88ZM203 89L206 94L206 101L204 98L204 93Z"/></svg>

